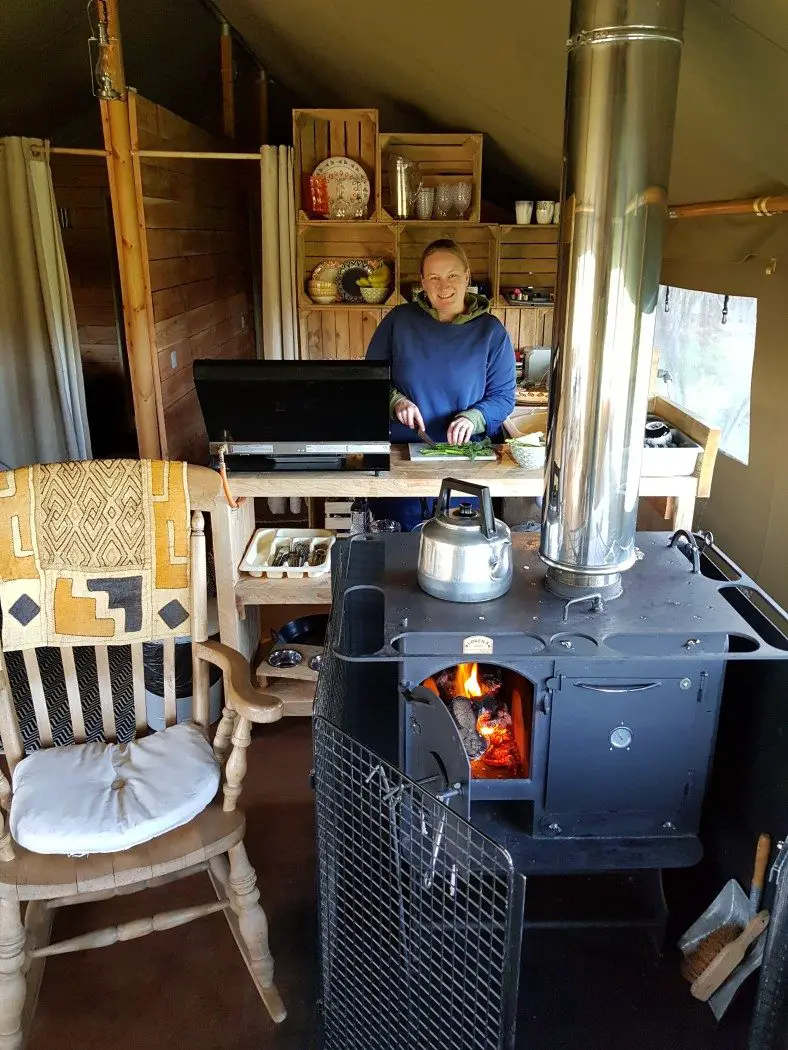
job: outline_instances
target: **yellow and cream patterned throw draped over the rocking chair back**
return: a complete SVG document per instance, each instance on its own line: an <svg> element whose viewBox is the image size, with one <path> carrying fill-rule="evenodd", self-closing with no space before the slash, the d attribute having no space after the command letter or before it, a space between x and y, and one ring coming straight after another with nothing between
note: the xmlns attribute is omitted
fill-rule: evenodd
<svg viewBox="0 0 788 1050"><path fill-rule="evenodd" d="M3 648L189 634L186 470L88 460L0 472Z"/></svg>

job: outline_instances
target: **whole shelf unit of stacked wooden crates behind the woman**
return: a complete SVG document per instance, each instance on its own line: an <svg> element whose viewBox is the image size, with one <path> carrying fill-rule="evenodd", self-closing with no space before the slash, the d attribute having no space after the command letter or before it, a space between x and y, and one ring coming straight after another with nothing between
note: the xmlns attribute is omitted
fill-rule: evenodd
<svg viewBox="0 0 788 1050"><path fill-rule="evenodd" d="M558 226L498 226L478 222L481 210L483 136L379 133L377 111L296 109L293 111L297 229L297 294L302 355L309 359L362 358L372 334L393 307L411 298L421 253L432 240L451 237L465 250L475 280L492 290L494 313L515 350L549 344L553 308L509 304L502 288L533 286L553 291L558 261ZM374 143L374 151L372 144ZM470 180L474 195L468 219L394 219L390 213L388 153L396 149L417 161L428 185ZM302 176L331 155L351 156L370 177L370 217L309 218L300 207ZM394 284L385 303L312 302L307 281L318 262L337 258L382 258Z"/></svg>

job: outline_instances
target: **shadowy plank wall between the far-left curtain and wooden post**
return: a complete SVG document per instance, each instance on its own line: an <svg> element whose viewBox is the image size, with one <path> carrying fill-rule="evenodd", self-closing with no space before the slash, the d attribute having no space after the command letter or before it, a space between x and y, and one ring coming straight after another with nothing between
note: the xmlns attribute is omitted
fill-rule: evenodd
<svg viewBox="0 0 788 1050"><path fill-rule="evenodd" d="M54 154L55 200L63 210L63 248L85 374L123 376L112 292L115 251L108 210L107 165L99 156ZM62 226L62 224L61 224Z"/></svg>

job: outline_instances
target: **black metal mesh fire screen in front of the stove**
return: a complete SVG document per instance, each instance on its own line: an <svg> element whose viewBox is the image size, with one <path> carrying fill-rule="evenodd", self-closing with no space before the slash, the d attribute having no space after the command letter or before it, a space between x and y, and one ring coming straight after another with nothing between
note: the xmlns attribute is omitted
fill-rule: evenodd
<svg viewBox="0 0 788 1050"><path fill-rule="evenodd" d="M314 740L324 1050L513 1047L509 854L324 718Z"/></svg>

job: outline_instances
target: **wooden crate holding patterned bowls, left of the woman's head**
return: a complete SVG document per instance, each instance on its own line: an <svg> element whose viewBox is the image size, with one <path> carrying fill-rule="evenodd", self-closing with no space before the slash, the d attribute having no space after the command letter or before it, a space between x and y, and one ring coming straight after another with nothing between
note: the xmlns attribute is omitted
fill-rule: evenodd
<svg viewBox="0 0 788 1050"><path fill-rule="evenodd" d="M387 304L397 301L397 227L393 223L331 223L315 220L298 227L297 287L298 304L313 310L333 310L334 306L316 307L307 295L307 281L318 262L325 259L381 258L391 267L394 284ZM362 310L364 306L337 303L343 309Z"/></svg>

